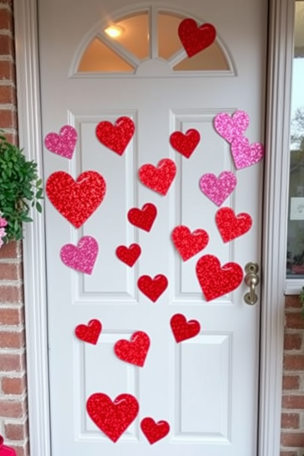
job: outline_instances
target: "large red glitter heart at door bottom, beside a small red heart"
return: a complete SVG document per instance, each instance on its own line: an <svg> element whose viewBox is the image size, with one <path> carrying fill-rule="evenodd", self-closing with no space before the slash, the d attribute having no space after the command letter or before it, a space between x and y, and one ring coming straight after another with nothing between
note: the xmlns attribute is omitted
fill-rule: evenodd
<svg viewBox="0 0 304 456"><path fill-rule="evenodd" d="M87 411L96 426L116 442L135 420L139 404L131 394L120 394L112 402L106 394L95 393L87 400Z"/></svg>

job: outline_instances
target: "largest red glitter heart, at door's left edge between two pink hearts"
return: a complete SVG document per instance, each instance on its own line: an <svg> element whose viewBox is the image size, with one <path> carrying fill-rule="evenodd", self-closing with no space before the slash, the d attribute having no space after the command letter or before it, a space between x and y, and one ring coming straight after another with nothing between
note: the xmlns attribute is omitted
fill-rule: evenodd
<svg viewBox="0 0 304 456"><path fill-rule="evenodd" d="M46 181L46 194L57 211L75 228L79 228L103 201L106 182L96 171L84 171L74 181L64 171L51 174Z"/></svg>

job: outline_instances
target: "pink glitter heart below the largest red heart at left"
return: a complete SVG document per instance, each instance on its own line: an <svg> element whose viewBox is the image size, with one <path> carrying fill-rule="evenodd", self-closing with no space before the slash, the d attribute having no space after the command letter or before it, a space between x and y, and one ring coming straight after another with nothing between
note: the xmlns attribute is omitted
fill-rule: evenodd
<svg viewBox="0 0 304 456"><path fill-rule="evenodd" d="M60 250L63 263L69 268L92 274L98 254L98 242L91 236L83 236L77 244L66 244Z"/></svg>

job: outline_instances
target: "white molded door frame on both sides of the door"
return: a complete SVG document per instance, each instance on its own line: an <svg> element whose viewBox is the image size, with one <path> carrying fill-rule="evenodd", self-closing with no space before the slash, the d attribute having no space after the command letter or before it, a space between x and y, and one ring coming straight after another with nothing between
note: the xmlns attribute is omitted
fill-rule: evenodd
<svg viewBox="0 0 304 456"><path fill-rule="evenodd" d="M269 0L258 456L280 450L294 5ZM42 175L36 0L16 0L14 14L19 142ZM31 456L51 456L45 224L33 218L23 241L29 432Z"/></svg>

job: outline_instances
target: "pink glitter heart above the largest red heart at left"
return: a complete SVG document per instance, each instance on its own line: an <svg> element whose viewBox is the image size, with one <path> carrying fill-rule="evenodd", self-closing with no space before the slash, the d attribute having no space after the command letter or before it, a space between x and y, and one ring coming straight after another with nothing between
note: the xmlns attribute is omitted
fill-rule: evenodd
<svg viewBox="0 0 304 456"><path fill-rule="evenodd" d="M49 133L46 135L44 144L46 149L54 154L71 159L74 153L77 142L77 131L70 125L64 125L59 135L57 133Z"/></svg>

